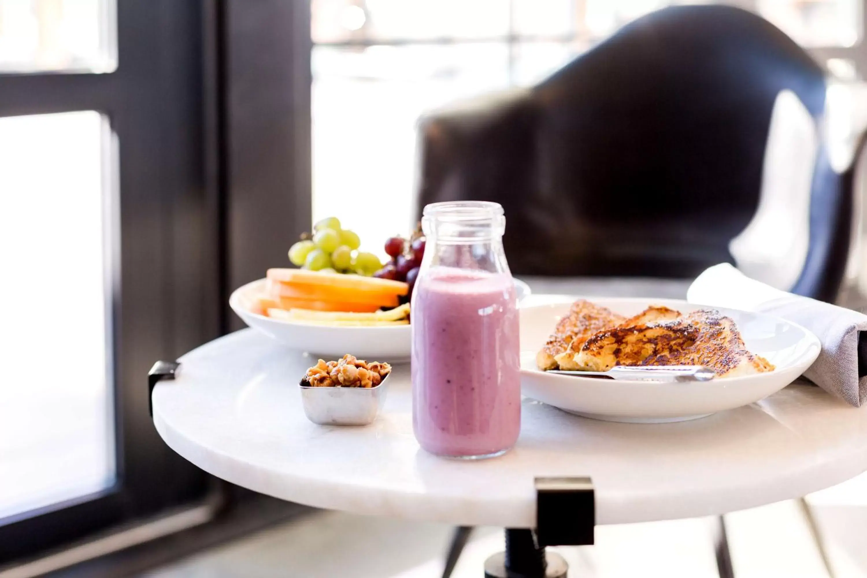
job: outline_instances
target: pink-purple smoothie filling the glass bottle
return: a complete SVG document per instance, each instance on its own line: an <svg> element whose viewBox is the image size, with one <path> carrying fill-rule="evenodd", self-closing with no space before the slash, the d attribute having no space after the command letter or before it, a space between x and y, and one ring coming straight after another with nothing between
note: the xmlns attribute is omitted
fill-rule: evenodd
<svg viewBox="0 0 867 578"><path fill-rule="evenodd" d="M425 450L508 450L521 426L518 308L512 277L433 267L413 294L413 426Z"/></svg>

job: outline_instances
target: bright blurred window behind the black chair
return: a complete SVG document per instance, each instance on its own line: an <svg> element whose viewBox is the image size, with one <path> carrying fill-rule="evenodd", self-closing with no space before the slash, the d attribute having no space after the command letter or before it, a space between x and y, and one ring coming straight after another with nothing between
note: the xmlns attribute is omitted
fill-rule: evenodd
<svg viewBox="0 0 867 578"><path fill-rule="evenodd" d="M363 248L381 252L413 225L420 114L530 86L623 24L684 3L701 2L312 0L314 220L339 215ZM735 3L807 48L836 49L831 67L851 70L861 0Z"/></svg>

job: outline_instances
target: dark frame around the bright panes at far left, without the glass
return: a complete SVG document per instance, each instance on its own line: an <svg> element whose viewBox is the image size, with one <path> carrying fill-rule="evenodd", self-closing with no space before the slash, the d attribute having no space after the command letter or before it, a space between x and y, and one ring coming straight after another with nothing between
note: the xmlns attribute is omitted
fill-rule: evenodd
<svg viewBox="0 0 867 578"><path fill-rule="evenodd" d="M110 73L0 74L0 116L94 110L112 128L114 182L105 224L112 250L106 371L114 404L113 487L0 520L0 564L205 497L212 477L180 458L147 412L147 370L222 333L219 191L208 171L217 120L203 111L207 34L217 3L118 2ZM62 472L58 472L61 476Z"/></svg>

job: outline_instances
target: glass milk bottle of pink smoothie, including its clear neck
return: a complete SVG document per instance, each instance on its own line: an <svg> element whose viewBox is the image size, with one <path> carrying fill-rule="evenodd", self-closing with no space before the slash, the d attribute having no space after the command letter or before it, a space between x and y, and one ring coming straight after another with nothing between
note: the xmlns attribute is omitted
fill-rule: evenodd
<svg viewBox="0 0 867 578"><path fill-rule="evenodd" d="M508 451L521 425L518 300L505 262L503 207L427 205L412 300L413 428L452 458Z"/></svg>

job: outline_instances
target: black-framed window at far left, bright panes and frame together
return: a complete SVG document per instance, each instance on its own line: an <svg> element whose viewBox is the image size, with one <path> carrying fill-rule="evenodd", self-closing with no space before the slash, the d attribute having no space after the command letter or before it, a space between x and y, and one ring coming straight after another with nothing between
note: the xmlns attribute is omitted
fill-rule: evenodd
<svg viewBox="0 0 867 578"><path fill-rule="evenodd" d="M0 0L0 568L209 490L145 388L219 332L204 19Z"/></svg>

